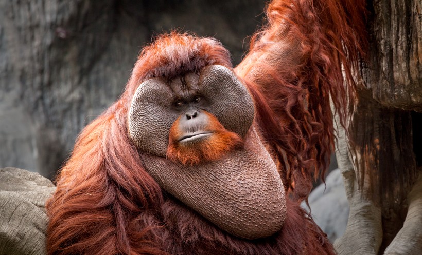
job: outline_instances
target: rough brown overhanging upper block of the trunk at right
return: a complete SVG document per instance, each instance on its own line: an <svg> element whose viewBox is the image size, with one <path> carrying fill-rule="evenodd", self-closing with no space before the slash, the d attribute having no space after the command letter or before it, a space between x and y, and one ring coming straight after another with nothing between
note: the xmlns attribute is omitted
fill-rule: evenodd
<svg viewBox="0 0 422 255"><path fill-rule="evenodd" d="M372 21L366 87L381 105L422 111L422 3L368 1Z"/></svg>

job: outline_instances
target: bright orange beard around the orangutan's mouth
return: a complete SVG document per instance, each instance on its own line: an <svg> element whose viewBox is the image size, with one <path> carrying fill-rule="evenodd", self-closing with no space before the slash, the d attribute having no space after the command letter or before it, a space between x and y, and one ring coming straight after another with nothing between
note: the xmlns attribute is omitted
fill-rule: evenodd
<svg viewBox="0 0 422 255"><path fill-rule="evenodd" d="M237 133L225 129L214 115L208 112L203 113L209 117L208 126L203 131L212 132L213 134L208 138L192 143L180 143L179 139L182 137L183 132L178 128L179 117L170 128L167 148L168 159L184 165L195 165L204 161L218 160L227 151L242 144L242 139Z"/></svg>

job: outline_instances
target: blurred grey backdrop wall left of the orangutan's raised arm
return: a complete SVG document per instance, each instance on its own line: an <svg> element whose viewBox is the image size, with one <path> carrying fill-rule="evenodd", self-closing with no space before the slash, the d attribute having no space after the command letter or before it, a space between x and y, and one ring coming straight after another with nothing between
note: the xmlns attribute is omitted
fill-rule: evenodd
<svg viewBox="0 0 422 255"><path fill-rule="evenodd" d="M0 167L54 176L80 130L121 94L151 34L182 28L215 36L238 63L264 6L262 0L0 0Z"/></svg>

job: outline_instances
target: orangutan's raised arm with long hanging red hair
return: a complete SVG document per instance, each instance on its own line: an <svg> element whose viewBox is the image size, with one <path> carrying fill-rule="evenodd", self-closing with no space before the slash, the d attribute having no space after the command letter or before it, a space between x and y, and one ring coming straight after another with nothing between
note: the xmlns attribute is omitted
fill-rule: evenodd
<svg viewBox="0 0 422 255"><path fill-rule="evenodd" d="M273 1L267 27L252 37L235 68L256 104L270 112L258 122L296 199L307 197L311 176L323 175L329 164L330 97L343 121L347 116L346 99L355 90L351 72L365 44L364 10L364 1Z"/></svg>

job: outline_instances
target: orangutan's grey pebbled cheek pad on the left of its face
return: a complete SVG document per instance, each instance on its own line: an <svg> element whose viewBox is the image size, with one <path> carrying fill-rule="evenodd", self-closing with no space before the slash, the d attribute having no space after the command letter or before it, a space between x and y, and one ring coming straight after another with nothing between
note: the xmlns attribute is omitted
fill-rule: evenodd
<svg viewBox="0 0 422 255"><path fill-rule="evenodd" d="M141 151L166 156L169 130L177 119L170 110L173 93L160 79L150 79L136 89L128 114L129 138Z"/></svg>

